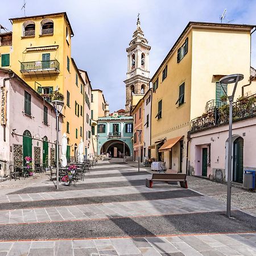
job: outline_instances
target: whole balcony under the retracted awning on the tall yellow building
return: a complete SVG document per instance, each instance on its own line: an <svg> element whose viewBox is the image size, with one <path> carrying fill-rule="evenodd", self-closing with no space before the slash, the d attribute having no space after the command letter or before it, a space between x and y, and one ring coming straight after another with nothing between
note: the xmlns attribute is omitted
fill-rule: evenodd
<svg viewBox="0 0 256 256"><path fill-rule="evenodd" d="M60 63L57 60L29 61L20 63L20 72L28 75L48 75L60 73Z"/></svg>

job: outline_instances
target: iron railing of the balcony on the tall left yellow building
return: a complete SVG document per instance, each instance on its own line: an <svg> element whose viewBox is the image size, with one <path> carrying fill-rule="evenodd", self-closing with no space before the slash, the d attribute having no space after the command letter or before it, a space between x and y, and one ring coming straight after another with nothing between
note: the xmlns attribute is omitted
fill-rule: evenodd
<svg viewBox="0 0 256 256"><path fill-rule="evenodd" d="M57 60L28 61L20 63L20 72L36 71L42 69L60 70L60 63Z"/></svg>

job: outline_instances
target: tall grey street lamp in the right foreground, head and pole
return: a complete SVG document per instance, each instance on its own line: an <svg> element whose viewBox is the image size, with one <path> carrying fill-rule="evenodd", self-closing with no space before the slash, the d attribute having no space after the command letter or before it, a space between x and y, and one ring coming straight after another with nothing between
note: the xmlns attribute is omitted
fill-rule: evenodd
<svg viewBox="0 0 256 256"><path fill-rule="evenodd" d="M229 147L228 147L228 189L227 189L227 200L226 200L226 216L230 218L230 208L231 208L231 167L232 167L232 112L233 112L233 100L234 94L237 89L237 83L243 79L242 74L234 74L229 76L224 76L220 79L220 84L224 93L229 99ZM222 84L234 84L233 93L228 96L228 92L225 91Z"/></svg>

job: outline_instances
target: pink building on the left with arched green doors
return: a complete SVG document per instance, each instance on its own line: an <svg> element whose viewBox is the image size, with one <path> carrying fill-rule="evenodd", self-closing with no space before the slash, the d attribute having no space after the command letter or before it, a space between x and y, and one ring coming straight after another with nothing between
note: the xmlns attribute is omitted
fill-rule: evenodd
<svg viewBox="0 0 256 256"><path fill-rule="evenodd" d="M53 106L10 69L0 68L0 175L23 166L24 157L46 166L55 160L56 116ZM62 117L60 115L59 129ZM61 137L60 137L61 144Z"/></svg>

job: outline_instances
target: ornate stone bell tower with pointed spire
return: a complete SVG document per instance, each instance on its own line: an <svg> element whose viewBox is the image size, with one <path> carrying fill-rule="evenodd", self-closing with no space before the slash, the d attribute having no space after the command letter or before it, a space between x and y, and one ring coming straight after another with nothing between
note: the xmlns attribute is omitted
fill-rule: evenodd
<svg viewBox="0 0 256 256"><path fill-rule="evenodd" d="M129 47L126 48L127 79L123 81L126 86L126 115L130 114L131 98L133 95L143 95L149 89L148 55L150 48L147 39L144 38L138 14L137 29L133 33L133 39L131 39Z"/></svg>

